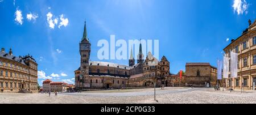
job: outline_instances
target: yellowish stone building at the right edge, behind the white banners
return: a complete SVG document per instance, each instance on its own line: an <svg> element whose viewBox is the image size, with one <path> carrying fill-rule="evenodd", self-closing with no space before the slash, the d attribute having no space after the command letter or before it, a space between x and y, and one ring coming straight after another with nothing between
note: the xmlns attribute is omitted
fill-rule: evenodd
<svg viewBox="0 0 256 115"><path fill-rule="evenodd" d="M245 88L253 90L256 84L256 20L242 32L242 35L224 48L224 52L230 57L230 52L238 53L238 78L224 80L225 87L233 89Z"/></svg>

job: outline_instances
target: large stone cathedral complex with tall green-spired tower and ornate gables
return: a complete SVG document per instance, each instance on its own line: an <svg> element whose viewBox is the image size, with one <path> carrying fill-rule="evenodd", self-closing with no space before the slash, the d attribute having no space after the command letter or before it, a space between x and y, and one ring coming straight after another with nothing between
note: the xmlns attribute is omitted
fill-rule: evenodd
<svg viewBox="0 0 256 115"><path fill-rule="evenodd" d="M157 87L167 84L164 80L170 76L170 62L166 57L158 61L151 52L143 59L142 44L139 44L137 63L133 50L129 58L129 66L118 63L90 61L91 44L86 32L79 44L80 67L75 70L75 87L79 90L86 89L114 89L133 87Z"/></svg>

